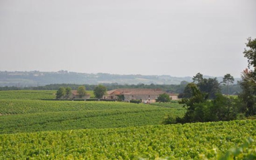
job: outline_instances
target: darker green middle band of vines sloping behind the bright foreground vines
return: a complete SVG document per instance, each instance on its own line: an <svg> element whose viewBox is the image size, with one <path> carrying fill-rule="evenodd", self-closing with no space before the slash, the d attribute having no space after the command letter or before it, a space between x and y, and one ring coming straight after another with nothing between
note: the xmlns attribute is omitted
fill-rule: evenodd
<svg viewBox="0 0 256 160"><path fill-rule="evenodd" d="M158 125L169 112L184 114L174 108L137 107L5 115L0 116L0 134Z"/></svg>

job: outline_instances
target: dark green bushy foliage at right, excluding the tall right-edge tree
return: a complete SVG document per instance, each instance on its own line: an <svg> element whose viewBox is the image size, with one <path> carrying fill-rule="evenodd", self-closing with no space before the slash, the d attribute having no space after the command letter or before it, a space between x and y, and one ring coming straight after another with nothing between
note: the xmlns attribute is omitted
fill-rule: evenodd
<svg viewBox="0 0 256 160"><path fill-rule="evenodd" d="M216 94L216 98L207 100L206 94L200 92L195 84L190 86L192 97L180 101L187 107L187 112L183 118L176 119L178 123L231 121L237 118L237 98Z"/></svg>

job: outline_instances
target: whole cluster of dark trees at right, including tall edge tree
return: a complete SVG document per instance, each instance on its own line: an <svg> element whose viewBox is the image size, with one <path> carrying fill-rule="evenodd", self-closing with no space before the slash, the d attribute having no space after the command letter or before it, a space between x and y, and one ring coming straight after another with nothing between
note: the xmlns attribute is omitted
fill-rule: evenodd
<svg viewBox="0 0 256 160"><path fill-rule="evenodd" d="M231 121L239 116L256 115L256 39L248 39L243 52L248 59L248 68L241 75L239 82L242 92L237 98L228 96L229 84L234 81L231 74L226 74L223 81L218 83L216 78L203 78L198 73L193 77L194 82L188 84L182 94L181 104L186 106L184 117L166 116L164 124L196 123L208 121ZM251 68L251 69L250 69ZM227 86L227 96L220 93L220 84Z"/></svg>

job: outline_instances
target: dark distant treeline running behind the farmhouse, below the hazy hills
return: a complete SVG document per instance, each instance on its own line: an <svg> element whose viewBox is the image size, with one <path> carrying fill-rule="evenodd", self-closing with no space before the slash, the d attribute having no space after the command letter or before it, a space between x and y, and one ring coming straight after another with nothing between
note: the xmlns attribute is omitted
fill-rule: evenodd
<svg viewBox="0 0 256 160"><path fill-rule="evenodd" d="M118 88L149 88L149 89L162 89L169 93L181 94L184 92L184 88L188 82L182 81L180 84L103 84L107 90L115 90ZM48 84L46 86L33 86L33 87L17 87L17 86L3 86L0 90L58 90L60 87L70 87L72 90L77 90L81 84ZM86 90L94 90L97 85L84 84ZM227 94L227 86L220 85L220 91L222 94ZM241 92L239 84L233 84L229 86L229 94L237 95Z"/></svg>

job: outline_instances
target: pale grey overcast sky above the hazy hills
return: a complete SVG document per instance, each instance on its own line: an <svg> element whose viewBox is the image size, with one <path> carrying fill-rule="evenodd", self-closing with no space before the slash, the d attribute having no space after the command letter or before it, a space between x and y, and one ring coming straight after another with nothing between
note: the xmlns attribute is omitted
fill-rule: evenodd
<svg viewBox="0 0 256 160"><path fill-rule="evenodd" d="M240 77L255 0L0 0L0 71Z"/></svg>

